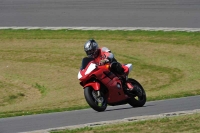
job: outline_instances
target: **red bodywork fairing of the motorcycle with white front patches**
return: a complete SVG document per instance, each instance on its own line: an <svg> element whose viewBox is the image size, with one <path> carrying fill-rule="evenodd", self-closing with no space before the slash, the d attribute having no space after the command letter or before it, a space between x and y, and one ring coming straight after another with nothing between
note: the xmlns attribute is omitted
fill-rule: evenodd
<svg viewBox="0 0 200 133"><path fill-rule="evenodd" d="M83 61L83 63L85 62ZM128 73L129 68L127 66L123 67ZM110 72L106 65L96 67L96 64L94 64L93 61L90 61L87 65L85 63L85 66L81 67L81 70L78 73L78 79L81 81L80 84L84 86L84 88L91 86L96 91L100 90L99 82L84 82L89 81L92 77L95 77L108 88L109 91L106 94L108 104L117 103L127 99L122 88L121 80L115 74Z"/></svg>

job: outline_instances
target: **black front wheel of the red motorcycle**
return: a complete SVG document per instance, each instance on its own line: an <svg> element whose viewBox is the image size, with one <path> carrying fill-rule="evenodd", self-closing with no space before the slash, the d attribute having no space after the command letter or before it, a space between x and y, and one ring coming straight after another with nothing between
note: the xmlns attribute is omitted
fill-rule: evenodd
<svg viewBox="0 0 200 133"><path fill-rule="evenodd" d="M107 108L107 100L104 94L100 92L100 96L98 96L97 91L92 87L84 88L84 96L89 106L94 110L102 112Z"/></svg>

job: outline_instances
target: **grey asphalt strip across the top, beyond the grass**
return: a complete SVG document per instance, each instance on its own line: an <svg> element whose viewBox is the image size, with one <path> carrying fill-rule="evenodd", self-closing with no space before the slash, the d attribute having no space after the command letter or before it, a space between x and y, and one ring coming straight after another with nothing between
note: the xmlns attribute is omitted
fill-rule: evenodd
<svg viewBox="0 0 200 133"><path fill-rule="evenodd" d="M0 0L0 27L200 28L199 0Z"/></svg>

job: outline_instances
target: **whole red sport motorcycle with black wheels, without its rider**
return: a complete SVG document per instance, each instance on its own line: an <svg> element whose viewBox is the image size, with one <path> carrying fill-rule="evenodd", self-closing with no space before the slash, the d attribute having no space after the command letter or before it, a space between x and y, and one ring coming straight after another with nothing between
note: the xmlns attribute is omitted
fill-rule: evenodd
<svg viewBox="0 0 200 133"><path fill-rule="evenodd" d="M128 77L132 64L122 65ZM94 110L105 111L107 105L130 104L142 107L146 103L146 93L142 85L132 78L123 81L111 71L111 64L96 65L92 58L83 58L78 73L87 103Z"/></svg>

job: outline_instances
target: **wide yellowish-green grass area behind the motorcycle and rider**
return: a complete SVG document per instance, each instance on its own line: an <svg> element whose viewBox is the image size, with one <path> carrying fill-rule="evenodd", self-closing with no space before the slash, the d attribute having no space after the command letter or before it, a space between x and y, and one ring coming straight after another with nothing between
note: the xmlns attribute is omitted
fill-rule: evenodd
<svg viewBox="0 0 200 133"><path fill-rule="evenodd" d="M90 38L134 65L148 101L200 94L200 32L0 30L0 117L88 107L77 73Z"/></svg>

